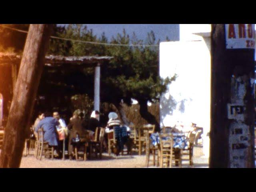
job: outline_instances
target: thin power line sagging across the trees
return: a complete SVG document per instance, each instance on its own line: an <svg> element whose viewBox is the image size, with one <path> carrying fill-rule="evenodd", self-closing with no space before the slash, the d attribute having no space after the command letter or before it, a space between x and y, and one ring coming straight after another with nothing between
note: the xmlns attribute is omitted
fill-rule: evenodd
<svg viewBox="0 0 256 192"><path fill-rule="evenodd" d="M18 32L23 32L23 33L28 33L28 31L24 31L24 30L20 30L20 29L16 29L16 28L11 28L8 26L3 26L0 25L3 28L8 28L11 30L15 30ZM126 47L159 47L159 45L127 45L127 44L112 44L112 43L100 43L100 42L91 42L91 41L82 41L82 40L74 40L74 39L69 39L69 38L61 38L61 37L56 37L56 36L50 36L53 39L62 39L62 40L67 40L67 41L73 41L73 42L81 42L81 43L88 43L88 44L98 44L98 45L107 45L107 46L126 46Z"/></svg>

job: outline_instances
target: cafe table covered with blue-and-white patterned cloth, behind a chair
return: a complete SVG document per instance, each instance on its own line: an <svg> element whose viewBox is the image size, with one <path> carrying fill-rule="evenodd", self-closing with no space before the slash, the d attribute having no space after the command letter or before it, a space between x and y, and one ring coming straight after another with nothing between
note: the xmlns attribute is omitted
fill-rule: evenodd
<svg viewBox="0 0 256 192"><path fill-rule="evenodd" d="M188 140L186 139L186 135L184 133L172 133L173 138L173 149L175 156L175 165L177 165L177 160L182 156L182 151L184 149L188 149ZM165 138L163 138L164 140ZM168 138L166 138L168 139ZM159 133L152 133L150 135L151 144L154 146L158 146L158 150L160 150L160 136Z"/></svg>

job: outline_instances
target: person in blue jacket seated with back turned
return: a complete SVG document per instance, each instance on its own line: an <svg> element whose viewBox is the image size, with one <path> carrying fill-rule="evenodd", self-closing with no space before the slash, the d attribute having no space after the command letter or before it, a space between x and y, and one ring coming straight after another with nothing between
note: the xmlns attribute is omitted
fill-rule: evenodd
<svg viewBox="0 0 256 192"><path fill-rule="evenodd" d="M58 133L56 126L60 124L60 122L53 117L50 117L49 114L46 114L47 117L42 119L38 125L36 126L35 131L38 132L38 129L43 128L44 132L44 141L48 142L49 146L54 146L57 150L58 147Z"/></svg>

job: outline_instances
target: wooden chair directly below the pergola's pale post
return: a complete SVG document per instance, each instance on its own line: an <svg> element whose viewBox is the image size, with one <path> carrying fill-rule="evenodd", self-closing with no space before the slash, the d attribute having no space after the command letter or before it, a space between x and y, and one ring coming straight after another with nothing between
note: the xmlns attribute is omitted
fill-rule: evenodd
<svg viewBox="0 0 256 192"><path fill-rule="evenodd" d="M100 159L102 158L102 143L104 139L104 133L105 129L101 127L97 127L94 133L94 140L89 141L89 157L92 155L93 150L94 154L97 157L97 154L99 153Z"/></svg>

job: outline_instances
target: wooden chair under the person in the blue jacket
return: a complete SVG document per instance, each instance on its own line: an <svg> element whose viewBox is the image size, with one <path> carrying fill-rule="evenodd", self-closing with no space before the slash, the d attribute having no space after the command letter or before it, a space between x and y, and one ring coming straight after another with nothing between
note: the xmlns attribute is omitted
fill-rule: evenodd
<svg viewBox="0 0 256 192"><path fill-rule="evenodd" d="M46 158L51 157L53 160L54 157L54 147L50 147L48 142L44 142L44 132L43 129L38 130L38 141L37 141L37 152L36 152L36 158L39 156L39 160L42 159L42 154L44 152L44 156Z"/></svg>

